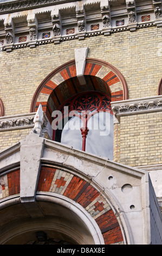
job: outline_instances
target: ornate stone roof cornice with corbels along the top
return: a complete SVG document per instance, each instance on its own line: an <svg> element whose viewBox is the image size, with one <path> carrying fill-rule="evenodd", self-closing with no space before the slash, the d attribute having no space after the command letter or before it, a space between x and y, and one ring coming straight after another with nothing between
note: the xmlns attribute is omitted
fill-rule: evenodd
<svg viewBox="0 0 162 256"><path fill-rule="evenodd" d="M145 0L142 4L135 0L9 0L0 2L0 20L3 23L0 50L10 52L16 48L162 27L162 6L161 0Z"/></svg>

